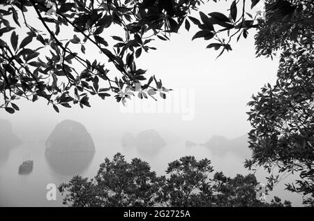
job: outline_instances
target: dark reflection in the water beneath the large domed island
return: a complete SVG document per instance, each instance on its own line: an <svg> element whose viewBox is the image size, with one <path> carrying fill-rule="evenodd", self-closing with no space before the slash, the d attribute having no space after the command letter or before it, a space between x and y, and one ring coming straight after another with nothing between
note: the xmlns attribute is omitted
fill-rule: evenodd
<svg viewBox="0 0 314 221"><path fill-rule="evenodd" d="M54 153L45 151L49 167L57 174L74 176L82 174L94 158L94 152Z"/></svg>

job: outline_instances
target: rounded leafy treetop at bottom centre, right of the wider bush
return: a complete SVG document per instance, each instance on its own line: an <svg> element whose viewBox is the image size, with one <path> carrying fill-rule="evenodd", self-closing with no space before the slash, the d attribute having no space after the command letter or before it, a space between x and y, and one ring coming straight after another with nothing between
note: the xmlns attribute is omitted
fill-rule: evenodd
<svg viewBox="0 0 314 221"><path fill-rule="evenodd" d="M193 156L186 156L170 162L167 178L163 186L165 206L211 206L212 186L209 174L214 169L211 161L197 161Z"/></svg>

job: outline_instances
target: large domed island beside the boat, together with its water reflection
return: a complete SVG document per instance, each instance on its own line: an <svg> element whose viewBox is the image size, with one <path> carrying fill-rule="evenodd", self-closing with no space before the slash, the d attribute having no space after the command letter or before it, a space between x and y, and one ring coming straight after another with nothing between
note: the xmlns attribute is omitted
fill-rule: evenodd
<svg viewBox="0 0 314 221"><path fill-rule="evenodd" d="M59 174L81 174L94 158L95 146L82 123L65 120L58 123L45 144L45 158Z"/></svg>

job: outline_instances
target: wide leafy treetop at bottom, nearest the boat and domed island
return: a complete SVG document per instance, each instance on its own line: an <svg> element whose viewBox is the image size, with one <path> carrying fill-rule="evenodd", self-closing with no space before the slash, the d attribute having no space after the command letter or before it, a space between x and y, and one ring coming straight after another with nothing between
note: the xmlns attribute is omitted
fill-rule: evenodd
<svg viewBox="0 0 314 221"><path fill-rule="evenodd" d="M147 162L133 159L130 163L120 153L105 159L91 181L80 176L60 185L64 204L71 206L154 206L163 185Z"/></svg>

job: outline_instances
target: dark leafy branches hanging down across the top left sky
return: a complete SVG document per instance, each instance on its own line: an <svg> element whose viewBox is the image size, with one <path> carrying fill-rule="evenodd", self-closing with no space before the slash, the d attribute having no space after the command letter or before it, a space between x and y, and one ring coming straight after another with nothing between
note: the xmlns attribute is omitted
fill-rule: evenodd
<svg viewBox="0 0 314 221"><path fill-rule="evenodd" d="M255 6L258 1L252 2ZM135 65L143 52L156 49L151 46L152 40L169 40L170 33L177 33L183 24L189 30L192 22L201 29L193 39L215 37L218 43L209 47L221 47L223 52L231 49L232 36L239 33L246 37L248 29L255 27L252 15L244 11L245 0L232 2L228 8L230 17L200 12L200 22L190 13L202 3L202 0L1 1L0 37L10 35L10 42L0 39L3 95L0 107L14 113L20 109L14 100L44 98L59 112L58 105L90 107L89 95L105 99L114 94L118 102L126 102L135 92L139 98L156 99L156 93L165 98L169 90L161 80L147 77L146 70ZM243 10L237 16L240 3ZM35 24L31 22L33 14ZM15 31L23 23L29 30L26 36ZM117 33L114 36L105 31L112 30L112 26L120 29L114 29ZM71 29L73 34L63 39L63 32ZM228 33L229 40L219 38L223 32ZM114 43L110 43L112 40ZM99 54L88 58L85 51L90 48Z"/></svg>

